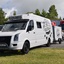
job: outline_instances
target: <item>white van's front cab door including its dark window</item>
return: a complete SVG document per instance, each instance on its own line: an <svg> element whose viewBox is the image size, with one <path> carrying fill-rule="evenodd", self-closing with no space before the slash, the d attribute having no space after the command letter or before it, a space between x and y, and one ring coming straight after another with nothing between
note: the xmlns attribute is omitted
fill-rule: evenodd
<svg viewBox="0 0 64 64"><path fill-rule="evenodd" d="M30 41L30 47L34 47L35 44L35 27L34 27L34 21L30 20L27 28L27 38Z"/></svg>

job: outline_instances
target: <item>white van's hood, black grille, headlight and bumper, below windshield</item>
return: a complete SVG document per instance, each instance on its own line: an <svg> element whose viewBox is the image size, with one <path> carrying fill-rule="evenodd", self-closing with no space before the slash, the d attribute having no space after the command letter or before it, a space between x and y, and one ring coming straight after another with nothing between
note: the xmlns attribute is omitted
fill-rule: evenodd
<svg viewBox="0 0 64 64"><path fill-rule="evenodd" d="M20 50L23 47L24 31L18 32L0 32L0 49Z"/></svg>

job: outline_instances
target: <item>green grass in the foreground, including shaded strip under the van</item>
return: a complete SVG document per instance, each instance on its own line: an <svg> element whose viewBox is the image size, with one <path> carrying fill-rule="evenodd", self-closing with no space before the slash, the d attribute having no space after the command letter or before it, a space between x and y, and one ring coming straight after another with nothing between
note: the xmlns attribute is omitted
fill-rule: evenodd
<svg viewBox="0 0 64 64"><path fill-rule="evenodd" d="M6 52L0 54L0 64L64 64L64 49L36 48L26 55Z"/></svg>

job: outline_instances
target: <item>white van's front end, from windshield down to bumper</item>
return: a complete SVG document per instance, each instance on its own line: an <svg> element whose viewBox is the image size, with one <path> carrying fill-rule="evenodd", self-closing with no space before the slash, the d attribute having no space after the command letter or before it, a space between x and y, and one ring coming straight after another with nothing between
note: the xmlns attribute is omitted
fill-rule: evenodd
<svg viewBox="0 0 64 64"><path fill-rule="evenodd" d="M28 20L22 21L8 22L4 25L0 32L0 50L21 50L23 48Z"/></svg>

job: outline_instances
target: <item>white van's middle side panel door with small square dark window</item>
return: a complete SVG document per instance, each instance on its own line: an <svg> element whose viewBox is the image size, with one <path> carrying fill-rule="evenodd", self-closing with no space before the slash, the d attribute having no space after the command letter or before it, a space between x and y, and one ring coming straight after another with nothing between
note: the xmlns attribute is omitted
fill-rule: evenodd
<svg viewBox="0 0 64 64"><path fill-rule="evenodd" d="M43 45L46 44L46 35L43 30L42 22L36 22L37 29L36 29L36 39L37 39L37 45Z"/></svg>

